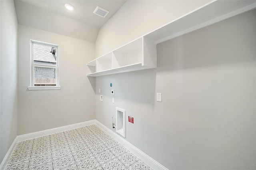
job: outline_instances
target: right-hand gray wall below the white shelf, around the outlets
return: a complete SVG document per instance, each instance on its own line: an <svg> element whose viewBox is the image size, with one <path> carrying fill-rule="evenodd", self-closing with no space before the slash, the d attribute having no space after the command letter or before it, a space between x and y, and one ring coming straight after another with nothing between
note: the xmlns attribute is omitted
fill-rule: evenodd
<svg viewBox="0 0 256 170"><path fill-rule="evenodd" d="M125 109L126 140L168 169L255 169L255 18L158 44L156 69L96 77L96 120L113 130L115 107Z"/></svg>

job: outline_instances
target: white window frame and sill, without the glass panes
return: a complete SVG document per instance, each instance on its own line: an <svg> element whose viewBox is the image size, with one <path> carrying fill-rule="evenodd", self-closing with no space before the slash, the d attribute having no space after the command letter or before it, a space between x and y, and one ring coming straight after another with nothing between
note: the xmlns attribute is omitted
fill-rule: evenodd
<svg viewBox="0 0 256 170"><path fill-rule="evenodd" d="M56 65L49 65L49 64L43 64L43 63L34 63L34 56L33 56L33 44L39 43L42 45L47 45L50 47L56 47L57 53L56 53ZM55 68L56 70L56 86L35 86L34 85L34 68L35 67L47 67L47 68ZM59 45L53 44L53 43L46 43L46 42L40 42L36 40L30 40L30 86L28 87L28 90L54 90L54 89L60 89L60 75L59 75Z"/></svg>

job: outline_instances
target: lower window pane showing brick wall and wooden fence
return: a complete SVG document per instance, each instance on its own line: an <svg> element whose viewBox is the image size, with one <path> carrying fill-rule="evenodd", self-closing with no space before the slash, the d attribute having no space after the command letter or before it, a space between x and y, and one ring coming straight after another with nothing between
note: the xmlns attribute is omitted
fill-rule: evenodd
<svg viewBox="0 0 256 170"><path fill-rule="evenodd" d="M56 69L34 67L34 86L56 86Z"/></svg>

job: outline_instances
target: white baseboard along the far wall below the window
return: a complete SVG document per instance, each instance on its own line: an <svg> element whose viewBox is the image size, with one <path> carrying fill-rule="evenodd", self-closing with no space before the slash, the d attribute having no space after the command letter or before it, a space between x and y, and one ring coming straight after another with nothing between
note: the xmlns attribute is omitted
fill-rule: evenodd
<svg viewBox="0 0 256 170"><path fill-rule="evenodd" d="M50 135L50 134L54 134L54 133L58 133L58 132L64 132L66 130L85 127L85 126L93 125L93 124L95 124L95 120L76 123L76 124L67 125L67 126L63 126L63 127L51 128L51 129L42 130L42 131L33 132L33 133L28 133L28 134L22 134L22 135L17 136L17 138L18 138L18 142L20 142L20 141L23 141L23 140L38 138L38 137L41 137L41 136L46 136L46 135Z"/></svg>

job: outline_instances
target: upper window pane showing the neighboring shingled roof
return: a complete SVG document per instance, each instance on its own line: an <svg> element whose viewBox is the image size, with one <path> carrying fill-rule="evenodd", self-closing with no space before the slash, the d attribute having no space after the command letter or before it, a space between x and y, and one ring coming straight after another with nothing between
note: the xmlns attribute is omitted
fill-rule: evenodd
<svg viewBox="0 0 256 170"><path fill-rule="evenodd" d="M56 47L33 43L34 63L56 65Z"/></svg>

